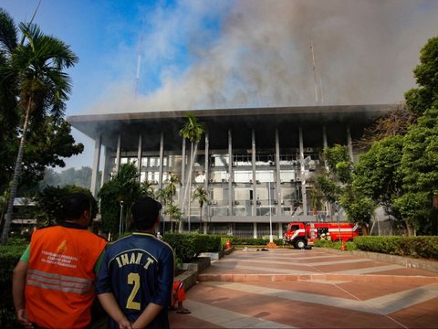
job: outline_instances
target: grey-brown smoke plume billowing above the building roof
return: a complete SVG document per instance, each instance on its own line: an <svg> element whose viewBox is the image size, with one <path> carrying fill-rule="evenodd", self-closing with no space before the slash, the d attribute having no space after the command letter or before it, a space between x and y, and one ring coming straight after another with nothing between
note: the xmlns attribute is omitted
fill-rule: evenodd
<svg viewBox="0 0 438 329"><path fill-rule="evenodd" d="M438 2L419 0L181 1L157 7L142 32L138 91L135 75L128 74L135 69L132 60L128 78L108 81L87 111L399 102L415 87L412 69L437 34L437 16ZM160 61L166 65L157 72ZM158 81L153 87L145 82L151 74Z"/></svg>

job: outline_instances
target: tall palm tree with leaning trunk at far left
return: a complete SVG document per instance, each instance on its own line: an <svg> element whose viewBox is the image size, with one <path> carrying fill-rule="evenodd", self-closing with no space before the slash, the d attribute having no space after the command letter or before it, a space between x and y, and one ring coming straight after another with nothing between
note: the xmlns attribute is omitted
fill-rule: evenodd
<svg viewBox="0 0 438 329"><path fill-rule="evenodd" d="M4 17L4 13L0 12L0 16ZM16 30L14 21L9 23L9 27ZM63 70L78 62L78 57L67 44L56 37L44 35L35 24L20 23L19 30L23 35L22 43L14 48L0 38L2 48L6 49L6 60L0 67L1 89L11 80L15 82L19 93L16 95L19 97L16 110L25 115L2 232L1 242L4 245L11 226L29 123L38 122L47 115L58 118L64 114L71 81Z"/></svg>

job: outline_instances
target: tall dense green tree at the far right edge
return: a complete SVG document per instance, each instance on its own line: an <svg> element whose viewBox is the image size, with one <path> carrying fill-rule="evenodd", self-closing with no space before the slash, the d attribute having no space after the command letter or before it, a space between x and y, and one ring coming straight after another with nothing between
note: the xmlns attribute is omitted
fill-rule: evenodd
<svg viewBox="0 0 438 329"><path fill-rule="evenodd" d="M418 88L405 93L409 109L419 116L403 141L401 173L402 196L394 205L413 228L410 234L438 234L438 37L430 38L420 53L420 64L413 69Z"/></svg>

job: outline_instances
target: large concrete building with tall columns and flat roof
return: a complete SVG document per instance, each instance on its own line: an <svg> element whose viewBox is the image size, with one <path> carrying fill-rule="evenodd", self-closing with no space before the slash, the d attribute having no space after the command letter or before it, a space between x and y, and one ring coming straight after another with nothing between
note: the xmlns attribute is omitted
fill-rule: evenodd
<svg viewBox="0 0 438 329"><path fill-rule="evenodd" d="M189 112L206 133L194 161L192 190L204 186L209 201L202 211L193 200L184 228L242 237L282 236L287 223L332 220L336 209L311 208L311 189L324 168L324 147L347 145L352 161L359 150L352 141L391 105L241 108L198 111L144 111L78 115L68 122L95 141L91 191L96 195L120 164L139 165L141 181L155 188L170 175L185 182L190 143L179 131ZM101 156L101 152L103 152ZM100 159L103 161L100 161ZM102 173L99 179L99 171ZM178 186L175 203L181 202ZM181 205L181 203L180 203Z"/></svg>

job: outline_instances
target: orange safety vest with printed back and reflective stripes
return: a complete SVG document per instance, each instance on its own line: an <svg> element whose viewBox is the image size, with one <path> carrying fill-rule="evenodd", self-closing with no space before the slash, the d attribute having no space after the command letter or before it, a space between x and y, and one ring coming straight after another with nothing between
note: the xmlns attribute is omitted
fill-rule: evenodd
<svg viewBox="0 0 438 329"><path fill-rule="evenodd" d="M107 242L87 229L37 229L26 275L29 321L47 328L84 328L96 296L94 266Z"/></svg>

